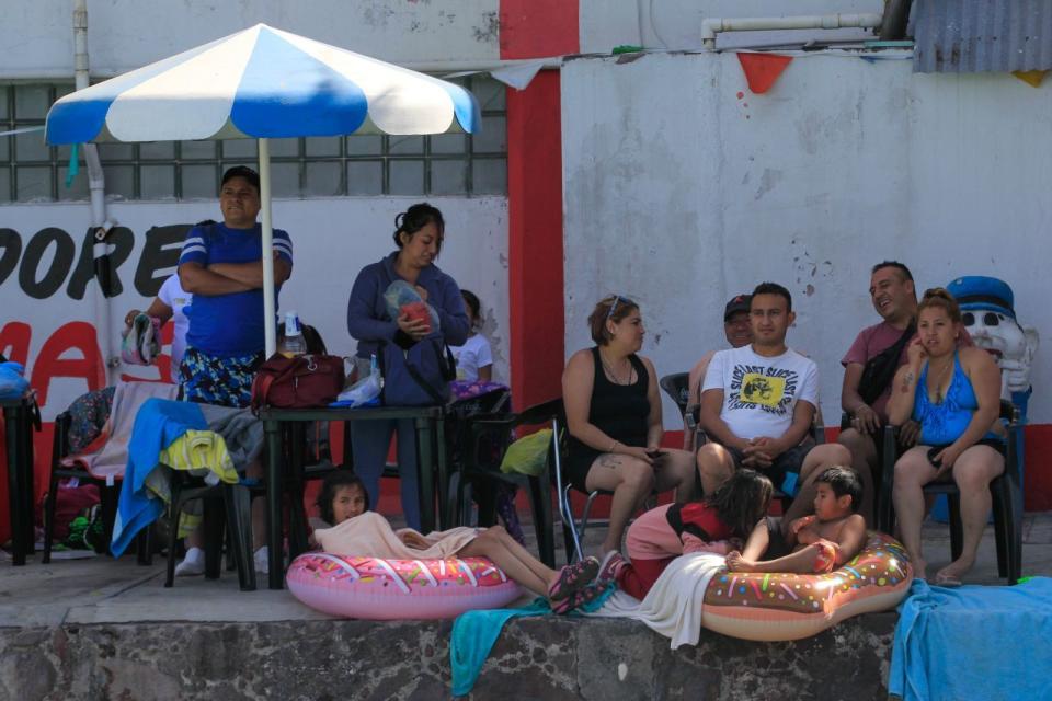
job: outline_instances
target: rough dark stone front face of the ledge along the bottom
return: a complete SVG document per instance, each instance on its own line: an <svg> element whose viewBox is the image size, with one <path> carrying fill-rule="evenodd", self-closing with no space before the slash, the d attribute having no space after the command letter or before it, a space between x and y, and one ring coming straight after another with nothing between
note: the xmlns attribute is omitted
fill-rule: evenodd
<svg viewBox="0 0 1052 701"><path fill-rule="evenodd" d="M894 613L793 643L702 631L671 651L642 624L521 619L472 699L885 699ZM0 629L0 698L449 698L451 623L296 620Z"/></svg>

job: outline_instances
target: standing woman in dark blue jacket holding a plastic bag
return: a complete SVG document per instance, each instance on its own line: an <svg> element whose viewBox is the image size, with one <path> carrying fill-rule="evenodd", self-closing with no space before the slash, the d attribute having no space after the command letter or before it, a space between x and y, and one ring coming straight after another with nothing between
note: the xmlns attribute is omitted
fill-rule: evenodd
<svg viewBox="0 0 1052 701"><path fill-rule="evenodd" d="M398 250L358 273L347 302L347 331L358 341L359 375L376 354L384 369L387 405L436 404L448 393L439 372L445 344L462 345L470 331L457 283L434 264L442 251L445 221L426 203L413 205L395 218ZM396 280L412 285L435 311L438 327L409 314L391 319L384 292ZM413 366L414 378L407 366ZM421 382L423 380L423 382ZM354 468L365 482L373 504L379 501L380 473L391 433L398 433L402 512L410 528L420 528L415 429L412 420L367 421L351 424Z"/></svg>

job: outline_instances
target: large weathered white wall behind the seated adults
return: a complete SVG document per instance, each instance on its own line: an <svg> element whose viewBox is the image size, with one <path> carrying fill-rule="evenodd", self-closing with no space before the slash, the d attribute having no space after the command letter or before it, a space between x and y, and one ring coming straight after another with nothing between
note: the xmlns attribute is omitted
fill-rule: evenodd
<svg viewBox="0 0 1052 701"><path fill-rule="evenodd" d="M812 56L754 95L733 54L649 55L570 61L562 103L568 354L616 291L641 300L659 372L685 370L725 345L727 299L775 280L835 423L839 358L879 321L869 269L897 258L921 290L964 274L1013 286L1045 336L1030 417L1052 422L1052 85Z"/></svg>

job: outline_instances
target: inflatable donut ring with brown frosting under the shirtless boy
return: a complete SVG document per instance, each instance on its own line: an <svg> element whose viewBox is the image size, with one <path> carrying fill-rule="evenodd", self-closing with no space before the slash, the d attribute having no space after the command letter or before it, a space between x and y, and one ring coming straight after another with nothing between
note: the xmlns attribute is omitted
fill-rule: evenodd
<svg viewBox="0 0 1052 701"><path fill-rule="evenodd" d="M705 591L701 624L756 641L809 637L846 618L899 605L913 565L899 541L869 532L858 555L830 574L721 572Z"/></svg>

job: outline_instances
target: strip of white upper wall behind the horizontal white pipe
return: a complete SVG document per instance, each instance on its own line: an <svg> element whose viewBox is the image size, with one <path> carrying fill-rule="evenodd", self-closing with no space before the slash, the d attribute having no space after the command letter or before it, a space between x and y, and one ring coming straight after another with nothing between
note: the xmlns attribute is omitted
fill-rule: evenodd
<svg viewBox="0 0 1052 701"><path fill-rule="evenodd" d="M609 53L620 44L647 48L701 47L706 18L882 12L883 0L580 0L581 53ZM876 38L865 30L734 32L720 34L720 48L782 42Z"/></svg>

